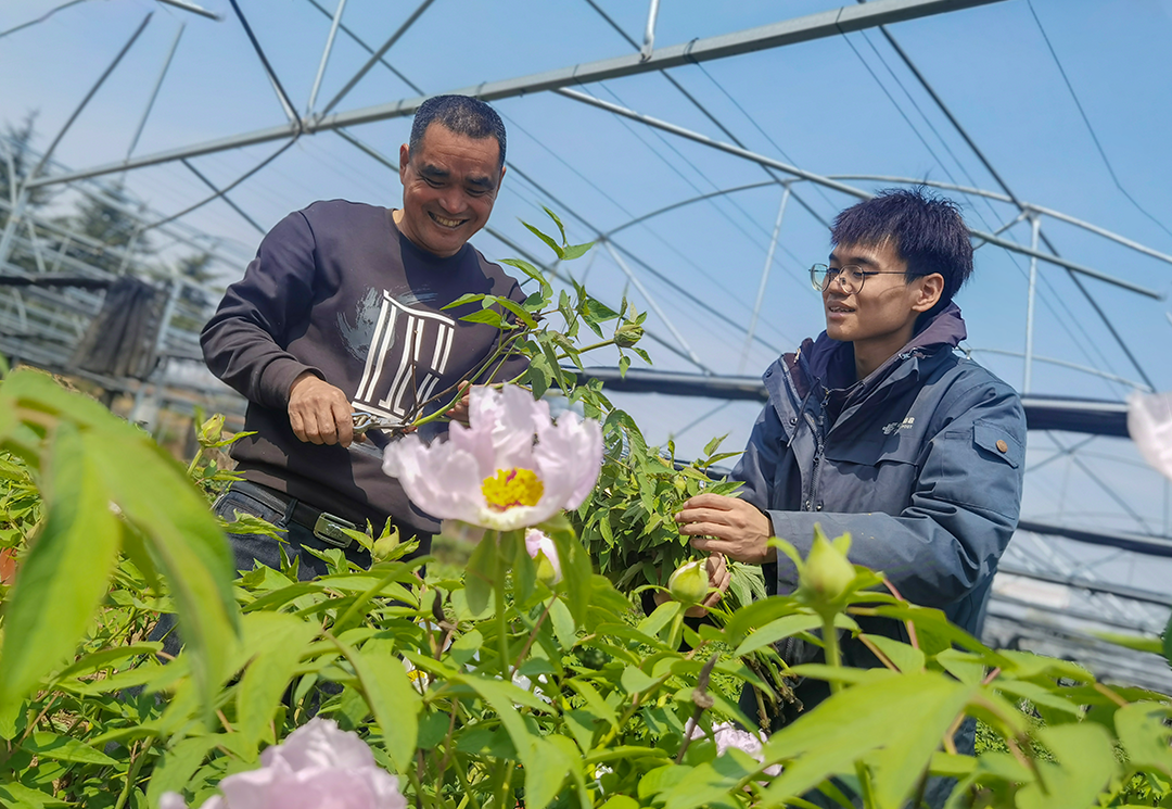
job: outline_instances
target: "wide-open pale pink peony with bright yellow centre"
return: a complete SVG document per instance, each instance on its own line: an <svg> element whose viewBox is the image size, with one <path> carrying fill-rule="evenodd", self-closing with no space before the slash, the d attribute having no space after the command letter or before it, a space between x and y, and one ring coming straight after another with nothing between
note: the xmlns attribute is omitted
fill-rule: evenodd
<svg viewBox="0 0 1172 809"><path fill-rule="evenodd" d="M382 470L416 505L440 519L497 531L538 525L577 509L598 481L602 430L524 388L472 388L470 427L452 423L430 447L408 435L387 447ZM536 441L534 441L536 437Z"/></svg>

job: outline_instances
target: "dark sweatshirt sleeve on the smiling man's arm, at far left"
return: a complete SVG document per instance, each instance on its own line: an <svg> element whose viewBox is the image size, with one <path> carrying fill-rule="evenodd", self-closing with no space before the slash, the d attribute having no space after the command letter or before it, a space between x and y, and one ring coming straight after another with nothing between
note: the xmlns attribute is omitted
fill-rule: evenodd
<svg viewBox="0 0 1172 809"><path fill-rule="evenodd" d="M288 407L289 386L318 368L285 351L304 329L313 302L314 238L300 212L265 236L244 278L224 293L199 336L207 367L248 401Z"/></svg>

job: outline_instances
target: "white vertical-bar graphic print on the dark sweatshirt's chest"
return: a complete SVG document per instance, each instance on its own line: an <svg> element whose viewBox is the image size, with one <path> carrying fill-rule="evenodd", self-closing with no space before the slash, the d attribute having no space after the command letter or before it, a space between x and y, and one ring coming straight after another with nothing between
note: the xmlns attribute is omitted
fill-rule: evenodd
<svg viewBox="0 0 1172 809"><path fill-rule="evenodd" d="M451 354L454 319L372 290L359 301L355 325L340 317L339 326L347 348L363 362L354 409L401 421L435 394Z"/></svg>

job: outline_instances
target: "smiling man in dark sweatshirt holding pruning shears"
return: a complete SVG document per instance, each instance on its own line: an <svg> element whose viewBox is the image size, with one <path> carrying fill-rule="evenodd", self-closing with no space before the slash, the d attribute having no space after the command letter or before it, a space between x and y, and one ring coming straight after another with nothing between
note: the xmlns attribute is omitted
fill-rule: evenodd
<svg viewBox="0 0 1172 809"><path fill-rule="evenodd" d="M325 571L306 548L342 548L369 564L342 529L390 519L424 551L438 529L382 474L381 451L354 433L355 414L406 423L450 402L464 380L524 368L497 356L498 329L459 320L470 307L443 308L465 293L525 299L468 244L492 212L504 161L504 124L488 104L429 98L400 150L402 208L335 199L288 215L204 328L207 366L248 400L245 430L254 433L233 446L245 480L217 511L273 523L304 577ZM466 417L466 401L451 415ZM272 539L232 542L239 569L280 563Z"/></svg>

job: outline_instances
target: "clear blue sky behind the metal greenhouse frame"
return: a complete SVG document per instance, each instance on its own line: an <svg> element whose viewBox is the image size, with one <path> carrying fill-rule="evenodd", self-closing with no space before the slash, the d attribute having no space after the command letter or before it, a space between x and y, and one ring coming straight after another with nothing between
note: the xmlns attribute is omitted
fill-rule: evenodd
<svg viewBox="0 0 1172 809"><path fill-rule="evenodd" d="M319 1L331 12L336 5L335 0L328 5ZM0 7L0 30L59 5L59 0L6 0ZM205 0L203 5L224 20L213 22L149 0L89 0L4 36L0 75L6 80L0 117L16 123L29 110L39 110L39 145L46 145L135 27L154 12L139 41L61 142L56 157L63 164L86 168L125 155L165 54L184 23L176 60L135 155L284 123L275 94L227 0ZM417 5L414 0L349 0L343 22L377 47ZM642 41L646 2L595 0L595 5L631 39ZM328 18L309 0L243 0L241 7L281 83L304 113L329 30ZM683 43L834 7L826 0L663 0L655 45ZM897 23L888 30L1018 198L1172 253L1172 162L1167 156L1172 72L1166 63L1172 4L1006 0ZM586 0L436 0L387 60L427 93L441 93L631 50ZM341 89L366 57L353 41L339 36L319 106ZM875 29L669 73L747 148L769 157L820 175L890 175L1001 190ZM728 140L660 74L578 89ZM376 67L336 109L415 95L389 70ZM659 208L716 189L770 179L754 163L548 93L507 98L496 106L509 127L513 168L491 224L538 253L541 246L527 236L519 219L540 223L543 204L563 215L572 240L586 242ZM408 125L400 118L352 131L394 158ZM218 152L196 158L193 164L223 184L277 145ZM847 182L866 189L884 185ZM127 183L163 213L178 211L206 193L193 175L173 163L130 172ZM809 183L796 184L793 190L823 219L852 202ZM301 138L232 193L264 227L289 210L332 197L395 205L400 186L395 174L338 135L323 132ZM629 251L625 254L632 271L656 305L715 373L755 375L778 352L792 349L803 336L823 328L818 298L809 288L805 268L824 259L826 231L815 215L791 200L765 287L757 329L761 342L743 351L781 198L777 185L757 188L680 208L614 238L616 246ZM1003 203L965 195L958 199L970 224L984 230L1016 215L1016 209ZM234 239L241 256L250 254L259 238L220 202L185 220ZM1062 223L1043 220L1043 231L1068 259L1164 294L1172 290L1172 265ZM1009 233L1023 243L1029 240L1027 224ZM476 243L491 258L512 254L488 234L477 237ZM967 346L974 356L1018 387L1024 367L1013 354L1024 351L1028 267L1023 257L982 247L975 278L958 299L969 325ZM597 249L593 257L571 270L585 276L594 294L611 302L629 287L627 277L604 250ZM225 277L241 271L243 260L240 266L223 267ZM1038 273L1035 352L1056 362L1036 362L1034 392L1122 400L1130 390L1126 382L1069 366L1131 381L1140 380L1139 372L1064 271L1043 263ZM1172 304L1093 279L1083 284L1153 386L1172 389L1167 352ZM628 291L640 310L649 307L641 294ZM650 315L648 325L673 342L657 315ZM668 351L654 345L648 348L657 367L696 370ZM613 361L613 356L599 358L601 365ZM628 396L622 403L653 441L677 435L683 454L723 433L730 434L728 444L738 448L757 409L748 403L720 407L716 401L666 396ZM1099 456L1091 456L1088 465L1099 477L1125 481L1125 485L1108 495L1085 469L1050 464L1064 471L1036 476L1027 495L1030 514L1129 530L1146 525L1167 533L1172 522L1167 484L1137 463L1126 442L1099 441L1091 449L1096 448L1102 448ZM1038 436L1031 444L1031 462L1044 461L1055 451L1049 437ZM1122 510L1119 497L1146 522L1137 522Z"/></svg>

